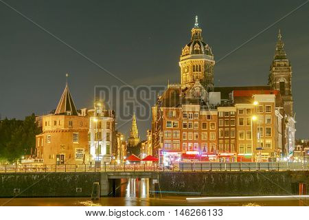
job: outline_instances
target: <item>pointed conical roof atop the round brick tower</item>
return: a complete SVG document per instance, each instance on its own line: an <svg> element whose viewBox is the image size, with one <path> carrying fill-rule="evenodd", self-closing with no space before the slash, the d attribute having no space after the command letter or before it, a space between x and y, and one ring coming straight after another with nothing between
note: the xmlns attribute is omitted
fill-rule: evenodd
<svg viewBox="0 0 309 220"><path fill-rule="evenodd" d="M65 85L55 115L78 115L68 84Z"/></svg>

